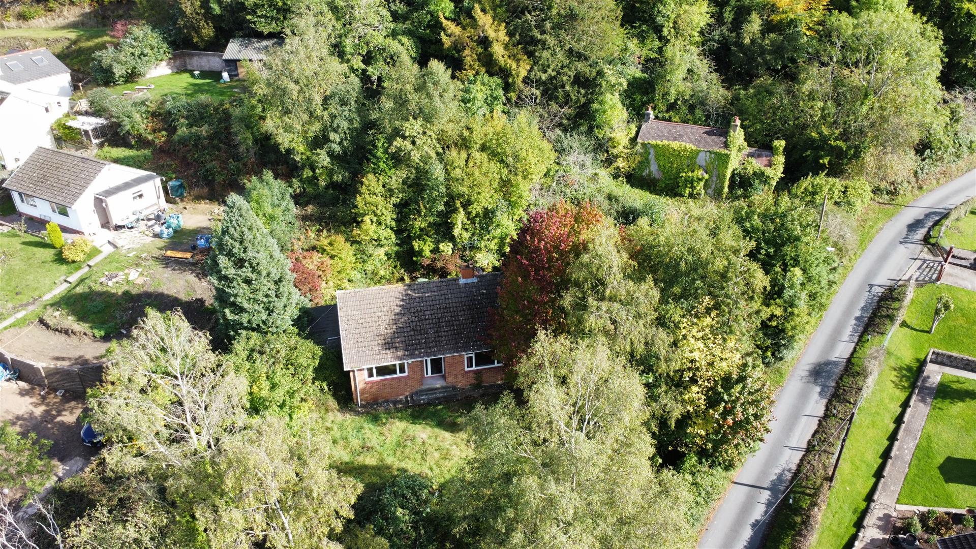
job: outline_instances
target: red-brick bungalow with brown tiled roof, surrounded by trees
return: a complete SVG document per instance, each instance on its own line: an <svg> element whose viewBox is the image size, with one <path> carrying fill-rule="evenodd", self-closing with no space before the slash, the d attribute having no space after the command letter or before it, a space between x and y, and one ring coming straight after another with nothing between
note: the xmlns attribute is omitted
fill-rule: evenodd
<svg viewBox="0 0 976 549"><path fill-rule="evenodd" d="M343 367L357 405L412 401L431 388L501 383L488 324L501 273L336 292Z"/></svg>

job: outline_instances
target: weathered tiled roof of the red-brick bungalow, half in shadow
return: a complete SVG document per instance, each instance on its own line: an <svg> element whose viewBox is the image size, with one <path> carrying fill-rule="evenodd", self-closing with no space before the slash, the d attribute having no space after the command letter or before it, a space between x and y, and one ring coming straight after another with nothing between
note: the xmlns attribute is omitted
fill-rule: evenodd
<svg viewBox="0 0 976 549"><path fill-rule="evenodd" d="M346 370L487 349L501 273L336 292Z"/></svg>

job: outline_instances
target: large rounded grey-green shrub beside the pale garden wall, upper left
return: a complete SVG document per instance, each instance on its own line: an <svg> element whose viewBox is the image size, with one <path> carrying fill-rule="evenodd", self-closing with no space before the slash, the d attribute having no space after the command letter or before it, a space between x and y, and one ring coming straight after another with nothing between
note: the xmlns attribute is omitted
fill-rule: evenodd
<svg viewBox="0 0 976 549"><path fill-rule="evenodd" d="M169 44L158 30L146 24L132 26L117 46L92 56L92 76L105 85L133 82L142 78L153 65L169 58L171 53Z"/></svg>

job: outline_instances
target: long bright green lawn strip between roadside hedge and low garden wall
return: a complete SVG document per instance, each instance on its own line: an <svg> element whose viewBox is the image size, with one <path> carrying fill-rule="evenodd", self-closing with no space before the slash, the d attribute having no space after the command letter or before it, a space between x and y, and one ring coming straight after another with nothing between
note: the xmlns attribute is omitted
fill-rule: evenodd
<svg viewBox="0 0 976 549"><path fill-rule="evenodd" d="M935 300L942 293L952 296L956 310L943 318L935 333L929 335ZM868 496L881 473L882 458L894 437L898 419L908 404L922 360L933 347L976 355L974 333L976 292L936 284L915 289L905 320L888 343L874 389L854 418L812 547L850 545ZM880 343L877 341L877 345Z"/></svg>

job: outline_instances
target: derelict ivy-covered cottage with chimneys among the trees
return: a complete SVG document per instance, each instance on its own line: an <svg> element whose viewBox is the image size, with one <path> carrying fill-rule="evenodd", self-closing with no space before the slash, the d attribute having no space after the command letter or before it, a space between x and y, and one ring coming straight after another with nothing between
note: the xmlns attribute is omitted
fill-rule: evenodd
<svg viewBox="0 0 976 549"><path fill-rule="evenodd" d="M726 130L657 120L648 106L637 135L644 148L638 173L669 194L720 198L729 189L733 170L743 161L782 172L784 142L773 143L772 150L752 148L744 134L738 116ZM771 174L770 179L778 178L779 174Z"/></svg>

